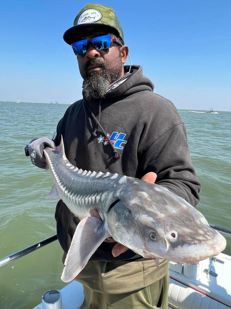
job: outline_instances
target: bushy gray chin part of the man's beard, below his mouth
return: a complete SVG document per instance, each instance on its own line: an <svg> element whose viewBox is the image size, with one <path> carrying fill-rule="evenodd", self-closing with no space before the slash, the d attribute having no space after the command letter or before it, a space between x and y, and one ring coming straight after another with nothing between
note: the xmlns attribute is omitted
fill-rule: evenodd
<svg viewBox="0 0 231 309"><path fill-rule="evenodd" d="M117 78L115 78L115 80L116 79ZM113 81L109 72L104 69L102 73L92 72L83 83L83 95L85 99L104 98L108 91L108 87Z"/></svg>

